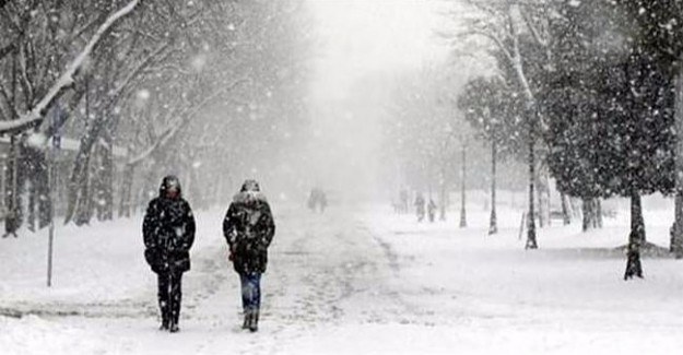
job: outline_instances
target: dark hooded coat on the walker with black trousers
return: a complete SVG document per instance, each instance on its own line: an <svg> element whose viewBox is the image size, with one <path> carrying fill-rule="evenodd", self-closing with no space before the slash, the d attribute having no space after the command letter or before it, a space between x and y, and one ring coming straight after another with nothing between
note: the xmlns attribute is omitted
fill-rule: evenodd
<svg viewBox="0 0 683 355"><path fill-rule="evenodd" d="M180 197L179 185L176 198L166 197L169 178L164 178L160 196L150 201L142 223L144 258L155 273L190 270L189 251L195 241L195 216Z"/></svg>

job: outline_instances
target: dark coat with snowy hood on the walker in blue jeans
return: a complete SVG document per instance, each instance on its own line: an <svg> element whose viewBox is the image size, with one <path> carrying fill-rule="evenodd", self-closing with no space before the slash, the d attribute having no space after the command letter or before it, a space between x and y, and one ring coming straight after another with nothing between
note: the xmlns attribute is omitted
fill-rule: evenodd
<svg viewBox="0 0 683 355"><path fill-rule="evenodd" d="M223 235L238 273L266 272L275 224L266 197L258 191L235 196L223 221Z"/></svg>

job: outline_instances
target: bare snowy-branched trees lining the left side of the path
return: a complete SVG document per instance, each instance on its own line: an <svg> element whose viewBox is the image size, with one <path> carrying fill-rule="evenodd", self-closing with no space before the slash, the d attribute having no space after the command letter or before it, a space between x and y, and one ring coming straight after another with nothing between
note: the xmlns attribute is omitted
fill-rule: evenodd
<svg viewBox="0 0 683 355"><path fill-rule="evenodd" d="M212 182L281 154L305 125L303 10L298 0L0 1L7 232L24 220L24 194L30 215L35 201L39 225L49 222L56 134L80 138L56 200L78 225L113 218L117 204L130 215L168 171L207 205L223 188Z"/></svg>

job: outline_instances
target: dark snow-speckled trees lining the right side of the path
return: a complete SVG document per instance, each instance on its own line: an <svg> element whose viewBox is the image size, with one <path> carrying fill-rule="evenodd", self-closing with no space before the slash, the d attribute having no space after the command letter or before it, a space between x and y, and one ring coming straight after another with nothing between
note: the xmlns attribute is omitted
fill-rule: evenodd
<svg viewBox="0 0 683 355"><path fill-rule="evenodd" d="M599 214L601 198L628 197L632 230L625 279L641 276L640 196L676 192L671 249L683 256L683 204L676 176L682 139L676 109L683 19L679 1L471 1L459 39L492 44L494 74L472 80L460 103L498 149L529 167L529 215L535 176L547 167L563 194ZM476 126L476 125L475 125ZM496 135L498 134L498 135ZM496 153L494 153L496 154ZM564 200L564 198L563 198ZM534 218L528 220L535 248Z"/></svg>

